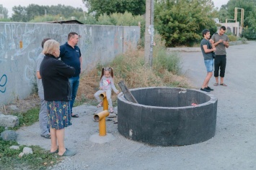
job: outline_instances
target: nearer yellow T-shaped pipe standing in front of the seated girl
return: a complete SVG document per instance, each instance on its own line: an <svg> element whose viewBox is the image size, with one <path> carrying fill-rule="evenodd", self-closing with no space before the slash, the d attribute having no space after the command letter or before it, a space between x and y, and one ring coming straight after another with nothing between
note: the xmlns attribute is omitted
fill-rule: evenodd
<svg viewBox="0 0 256 170"><path fill-rule="evenodd" d="M100 136L106 136L106 117L110 115L110 112L108 110L103 110L100 113L97 113L94 115L94 121L99 122L99 130L100 130Z"/></svg>

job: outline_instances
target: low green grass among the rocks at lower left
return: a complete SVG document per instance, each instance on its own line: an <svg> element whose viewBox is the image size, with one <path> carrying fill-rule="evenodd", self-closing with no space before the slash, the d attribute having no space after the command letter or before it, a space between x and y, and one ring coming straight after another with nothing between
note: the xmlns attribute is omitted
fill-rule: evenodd
<svg viewBox="0 0 256 170"><path fill-rule="evenodd" d="M30 126L38 121L38 113L40 108L32 108L27 110L26 113L13 113L19 118L19 126L15 128L9 128L9 130L17 130L22 126ZM4 127L0 127L0 133L5 130ZM59 161L56 154L48 154L39 146L27 146L32 148L33 154L22 156L19 158L19 154L23 151L25 146L19 146L19 150L9 148L10 146L19 146L17 141L3 141L0 138L0 167L1 170L9 169L47 169L48 166L53 166Z"/></svg>

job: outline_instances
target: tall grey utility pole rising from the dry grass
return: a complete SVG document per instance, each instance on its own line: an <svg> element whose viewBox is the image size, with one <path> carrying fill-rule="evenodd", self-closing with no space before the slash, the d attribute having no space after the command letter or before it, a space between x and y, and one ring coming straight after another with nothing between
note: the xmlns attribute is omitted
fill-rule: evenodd
<svg viewBox="0 0 256 170"><path fill-rule="evenodd" d="M154 46L154 0L146 0L144 60L147 67L152 66Z"/></svg>

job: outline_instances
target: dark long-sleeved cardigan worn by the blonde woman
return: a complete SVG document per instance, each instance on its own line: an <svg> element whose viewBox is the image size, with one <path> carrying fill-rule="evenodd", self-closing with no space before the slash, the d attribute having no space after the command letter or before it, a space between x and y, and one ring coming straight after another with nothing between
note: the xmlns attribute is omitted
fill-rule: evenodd
<svg viewBox="0 0 256 170"><path fill-rule="evenodd" d="M74 73L74 67L69 67L53 55L45 55L40 65L45 100L71 100L69 77L72 77Z"/></svg>

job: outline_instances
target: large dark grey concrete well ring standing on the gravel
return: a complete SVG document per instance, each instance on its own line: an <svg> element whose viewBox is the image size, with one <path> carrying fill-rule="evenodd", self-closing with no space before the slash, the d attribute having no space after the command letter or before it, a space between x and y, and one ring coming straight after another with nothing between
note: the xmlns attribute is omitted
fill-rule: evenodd
<svg viewBox="0 0 256 170"><path fill-rule="evenodd" d="M118 95L118 131L125 138L159 146L182 146L213 138L217 98L200 90L131 89L138 103Z"/></svg>

